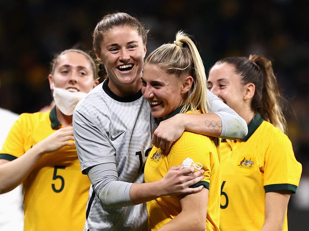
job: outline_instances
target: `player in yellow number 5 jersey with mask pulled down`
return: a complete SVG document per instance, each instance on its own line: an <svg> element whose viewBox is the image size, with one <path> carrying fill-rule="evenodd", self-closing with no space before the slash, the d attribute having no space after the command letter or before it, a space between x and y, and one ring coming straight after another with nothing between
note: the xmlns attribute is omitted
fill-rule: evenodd
<svg viewBox="0 0 309 231"><path fill-rule="evenodd" d="M90 182L81 174L72 113L97 85L95 63L80 50L66 50L49 75L56 106L23 113L0 154L0 193L23 183L24 230L82 230Z"/></svg>

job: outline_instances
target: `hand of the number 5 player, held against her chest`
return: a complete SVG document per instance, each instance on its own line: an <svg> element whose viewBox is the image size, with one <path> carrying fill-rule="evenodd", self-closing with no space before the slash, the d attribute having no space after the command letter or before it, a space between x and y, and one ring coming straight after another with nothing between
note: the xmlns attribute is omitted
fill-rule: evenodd
<svg viewBox="0 0 309 231"><path fill-rule="evenodd" d="M74 143L69 140L74 140L72 126L58 129L56 132L36 144L36 146L40 147L41 153L54 152L66 145L73 146Z"/></svg>

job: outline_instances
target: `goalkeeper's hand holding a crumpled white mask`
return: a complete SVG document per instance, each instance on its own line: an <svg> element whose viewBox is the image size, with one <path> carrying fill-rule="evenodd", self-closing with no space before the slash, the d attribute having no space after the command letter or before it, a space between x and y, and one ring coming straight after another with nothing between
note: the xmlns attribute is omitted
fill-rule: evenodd
<svg viewBox="0 0 309 231"><path fill-rule="evenodd" d="M180 169L179 166L171 167L161 179L163 196L197 193L203 189L203 185L197 188L188 188L204 179L204 170L195 171L195 168Z"/></svg>

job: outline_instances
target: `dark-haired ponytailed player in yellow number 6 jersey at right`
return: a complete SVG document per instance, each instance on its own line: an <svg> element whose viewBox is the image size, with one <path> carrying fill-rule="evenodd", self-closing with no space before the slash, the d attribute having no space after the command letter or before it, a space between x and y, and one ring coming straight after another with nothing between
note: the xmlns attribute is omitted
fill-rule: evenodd
<svg viewBox="0 0 309 231"><path fill-rule="evenodd" d="M302 166L283 133L277 80L259 55L229 57L210 70L211 91L248 123L248 135L221 143L220 230L288 230L287 206Z"/></svg>

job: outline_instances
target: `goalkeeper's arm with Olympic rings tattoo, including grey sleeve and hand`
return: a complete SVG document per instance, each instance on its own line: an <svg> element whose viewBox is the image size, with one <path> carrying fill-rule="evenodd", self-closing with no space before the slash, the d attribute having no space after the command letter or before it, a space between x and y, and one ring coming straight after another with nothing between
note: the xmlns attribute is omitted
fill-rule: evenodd
<svg viewBox="0 0 309 231"><path fill-rule="evenodd" d="M247 135L248 126L233 109L217 96L207 91L211 111L206 114L177 114L162 121L155 130L152 144L170 152L171 146L184 130L226 139L240 139Z"/></svg>

